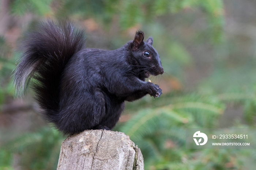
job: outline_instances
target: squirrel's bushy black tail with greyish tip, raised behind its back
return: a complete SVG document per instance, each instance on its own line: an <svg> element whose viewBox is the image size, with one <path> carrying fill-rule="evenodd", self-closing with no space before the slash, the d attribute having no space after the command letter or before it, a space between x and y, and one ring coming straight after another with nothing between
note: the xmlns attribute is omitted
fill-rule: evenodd
<svg viewBox="0 0 256 170"><path fill-rule="evenodd" d="M52 20L41 23L22 41L23 55L14 74L16 92L23 94L30 84L50 122L57 121L61 73L69 59L84 46L82 30L75 30L70 22L55 24Z"/></svg>

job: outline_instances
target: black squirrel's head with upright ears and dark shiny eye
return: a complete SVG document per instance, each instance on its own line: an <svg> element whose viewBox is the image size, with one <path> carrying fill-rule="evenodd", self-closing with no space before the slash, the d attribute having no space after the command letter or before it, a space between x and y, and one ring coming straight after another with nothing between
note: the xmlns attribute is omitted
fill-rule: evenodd
<svg viewBox="0 0 256 170"><path fill-rule="evenodd" d="M148 78L151 75L157 76L163 74L163 67L157 51L152 46L153 38L149 37L145 42L144 33L136 32L131 43L131 53L138 64L140 76Z"/></svg>

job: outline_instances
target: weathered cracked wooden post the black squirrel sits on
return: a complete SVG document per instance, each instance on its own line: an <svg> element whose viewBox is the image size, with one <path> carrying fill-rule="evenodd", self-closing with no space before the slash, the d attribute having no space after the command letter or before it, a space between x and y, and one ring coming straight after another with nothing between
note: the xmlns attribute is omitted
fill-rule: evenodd
<svg viewBox="0 0 256 170"><path fill-rule="evenodd" d="M86 130L61 144L57 170L143 170L140 149L122 132Z"/></svg>

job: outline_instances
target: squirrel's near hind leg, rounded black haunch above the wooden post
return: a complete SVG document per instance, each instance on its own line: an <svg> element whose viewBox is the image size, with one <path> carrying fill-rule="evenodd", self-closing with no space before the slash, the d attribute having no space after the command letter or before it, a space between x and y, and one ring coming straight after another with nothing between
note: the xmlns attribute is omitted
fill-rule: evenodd
<svg viewBox="0 0 256 170"><path fill-rule="evenodd" d="M96 128L101 125L101 121L106 115L103 93L99 89L95 89L93 93L82 88L80 90L82 92L78 93L79 95L72 94L67 97L65 103L62 103L56 126L64 134L103 129ZM107 127L105 129L109 130Z"/></svg>

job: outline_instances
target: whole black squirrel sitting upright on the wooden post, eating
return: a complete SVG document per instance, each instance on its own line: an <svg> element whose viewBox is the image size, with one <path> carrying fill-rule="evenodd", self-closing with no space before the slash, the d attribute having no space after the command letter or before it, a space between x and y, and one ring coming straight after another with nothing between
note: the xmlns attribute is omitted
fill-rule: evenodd
<svg viewBox="0 0 256 170"><path fill-rule="evenodd" d="M84 31L71 22L42 22L22 41L16 92L30 85L42 115L64 134L111 130L124 101L162 94L158 85L145 81L164 71L153 38L143 39L138 31L119 49L89 49Z"/></svg>

